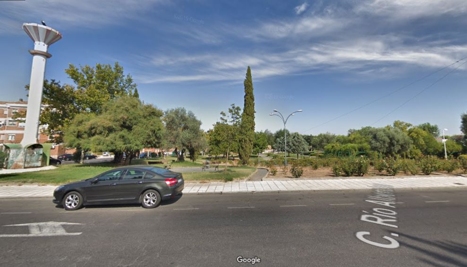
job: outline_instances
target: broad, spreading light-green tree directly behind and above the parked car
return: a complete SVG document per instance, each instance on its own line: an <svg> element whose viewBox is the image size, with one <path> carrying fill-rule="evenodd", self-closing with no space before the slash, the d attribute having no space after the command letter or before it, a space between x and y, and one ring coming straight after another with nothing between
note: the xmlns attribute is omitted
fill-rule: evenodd
<svg viewBox="0 0 467 267"><path fill-rule="evenodd" d="M65 131L67 146L82 151L112 151L114 162L127 155L124 164L143 147L157 147L163 138L163 112L132 96L116 98L102 107L102 113L80 114ZM73 129L77 130L73 130ZM83 152L84 153L84 152Z"/></svg>

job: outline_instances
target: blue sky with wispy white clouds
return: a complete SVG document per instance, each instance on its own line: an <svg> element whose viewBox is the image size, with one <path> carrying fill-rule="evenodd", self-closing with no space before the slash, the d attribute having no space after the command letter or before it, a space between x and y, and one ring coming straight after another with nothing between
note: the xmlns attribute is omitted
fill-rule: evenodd
<svg viewBox="0 0 467 267"><path fill-rule="evenodd" d="M248 65L256 130L283 127L274 109L302 109L287 123L302 134L403 120L452 135L467 112L466 60L401 89L467 56L465 0L0 1L0 100L26 99L33 42L21 25L41 20L63 34L47 79L118 61L145 103L192 110L205 130L243 107Z"/></svg>

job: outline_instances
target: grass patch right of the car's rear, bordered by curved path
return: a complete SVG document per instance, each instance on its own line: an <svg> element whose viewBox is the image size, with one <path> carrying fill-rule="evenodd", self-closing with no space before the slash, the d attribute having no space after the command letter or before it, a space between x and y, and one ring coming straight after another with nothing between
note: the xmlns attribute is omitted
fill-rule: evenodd
<svg viewBox="0 0 467 267"><path fill-rule="evenodd" d="M255 167L239 166L239 167L227 167L224 171L224 167L219 165L219 171L202 171L202 172L184 172L183 178L185 180L224 180L232 181L233 179L244 179L250 176L254 171Z"/></svg>

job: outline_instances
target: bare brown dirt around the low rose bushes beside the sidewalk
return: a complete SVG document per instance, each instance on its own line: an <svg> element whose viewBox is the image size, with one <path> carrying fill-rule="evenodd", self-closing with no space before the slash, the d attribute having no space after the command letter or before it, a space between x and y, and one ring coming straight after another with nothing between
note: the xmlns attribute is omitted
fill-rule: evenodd
<svg viewBox="0 0 467 267"><path fill-rule="evenodd" d="M289 168L290 170L290 168ZM452 173L447 173L447 172L433 172L430 174L430 176L458 176L462 172L460 170L453 171ZM424 175L423 173L418 173L417 175ZM382 177L385 176L387 178L391 178L394 176L390 176L389 174L385 172L379 172L374 170L373 168L370 167L369 171L365 176L359 177L359 176L351 176L351 177L335 177L333 174L333 170L331 167L322 167L319 168L318 170L313 170L311 167L303 167L303 175L300 178L311 178L311 179L354 179L354 178L374 178L374 177ZM410 177L412 175L405 174L403 172L399 172L395 177ZM287 174L284 173L282 168L277 168L277 173L275 176L272 176L270 173L268 175L268 178L293 178L292 175L290 174L290 171L287 171Z"/></svg>

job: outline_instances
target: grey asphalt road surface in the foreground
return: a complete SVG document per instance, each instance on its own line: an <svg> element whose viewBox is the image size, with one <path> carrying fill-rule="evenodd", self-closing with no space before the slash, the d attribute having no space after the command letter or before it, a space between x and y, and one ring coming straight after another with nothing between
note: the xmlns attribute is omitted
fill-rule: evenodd
<svg viewBox="0 0 467 267"><path fill-rule="evenodd" d="M396 208L365 201L374 195L185 194L152 210L75 212L48 198L0 199L0 266L251 266L239 256L261 259L255 266L467 266L467 190L396 191ZM384 223L397 228L361 220L375 211L396 212L396 221ZM78 224L6 226L39 222ZM386 235L399 247L367 244L359 232L383 245ZM80 234L65 235L73 233Z"/></svg>

